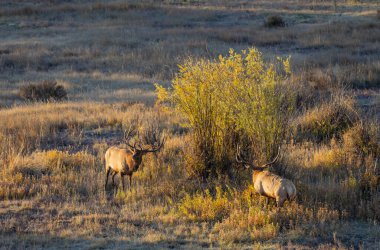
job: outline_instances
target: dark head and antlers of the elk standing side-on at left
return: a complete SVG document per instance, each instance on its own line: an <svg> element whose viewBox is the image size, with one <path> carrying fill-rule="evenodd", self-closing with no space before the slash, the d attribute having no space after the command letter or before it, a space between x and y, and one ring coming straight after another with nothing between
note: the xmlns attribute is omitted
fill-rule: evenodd
<svg viewBox="0 0 380 250"><path fill-rule="evenodd" d="M128 132L124 132L124 140L132 153L133 160L136 163L135 166L138 168L143 155L157 152L162 148L165 144L165 137L154 127L149 127L142 136L137 132L137 139L132 144L131 139L134 135L136 135L135 130L130 126Z"/></svg>

